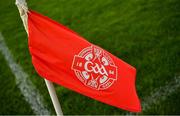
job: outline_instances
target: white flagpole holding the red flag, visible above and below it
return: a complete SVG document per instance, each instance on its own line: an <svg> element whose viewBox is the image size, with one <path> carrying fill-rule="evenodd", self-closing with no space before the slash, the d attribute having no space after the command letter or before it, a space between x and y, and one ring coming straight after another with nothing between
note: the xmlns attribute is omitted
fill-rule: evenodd
<svg viewBox="0 0 180 116"><path fill-rule="evenodd" d="M27 7L27 3L26 3L25 0L16 0L16 5L18 7L18 10L19 10L21 19L23 21L25 30L26 30L26 32L28 34L28 23L27 23L27 20L28 20L28 15L27 15L28 7ZM57 115L63 115L63 112L61 110L61 106L60 106L58 97L56 95L56 91L54 89L53 83L51 81L46 80L46 79L44 79L44 80L45 80L46 86L48 88L48 91L49 91L52 103L54 105L54 109L56 111L56 114Z"/></svg>

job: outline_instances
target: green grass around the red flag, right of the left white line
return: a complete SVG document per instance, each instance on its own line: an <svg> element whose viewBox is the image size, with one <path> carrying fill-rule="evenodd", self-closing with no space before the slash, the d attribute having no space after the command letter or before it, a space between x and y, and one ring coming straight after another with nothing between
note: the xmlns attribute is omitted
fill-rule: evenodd
<svg viewBox="0 0 180 116"><path fill-rule="evenodd" d="M30 75L54 113L44 80L31 64L27 35L14 1L1 0L0 4L0 31L15 60ZM179 0L30 0L28 5L135 66L141 99L180 75ZM7 69L0 69L3 75L10 75ZM126 113L60 86L56 90L64 114ZM152 105L144 114L180 114L178 93ZM0 104L6 105L1 100ZM8 113L6 109L0 111ZM23 111L19 109L17 113L24 114Z"/></svg>

